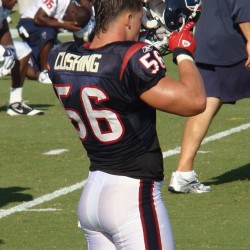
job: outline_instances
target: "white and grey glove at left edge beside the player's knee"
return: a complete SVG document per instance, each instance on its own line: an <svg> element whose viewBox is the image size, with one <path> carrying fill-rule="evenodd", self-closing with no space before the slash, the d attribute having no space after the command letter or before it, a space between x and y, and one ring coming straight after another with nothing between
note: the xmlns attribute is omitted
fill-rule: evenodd
<svg viewBox="0 0 250 250"><path fill-rule="evenodd" d="M16 50L13 46L0 45L0 77L8 75L15 65Z"/></svg>

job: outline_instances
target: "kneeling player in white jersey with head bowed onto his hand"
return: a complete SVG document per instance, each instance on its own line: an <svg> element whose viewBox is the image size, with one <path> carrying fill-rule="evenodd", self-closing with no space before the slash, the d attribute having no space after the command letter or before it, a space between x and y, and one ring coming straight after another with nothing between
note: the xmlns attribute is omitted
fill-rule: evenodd
<svg viewBox="0 0 250 250"><path fill-rule="evenodd" d="M76 1L38 0L22 11L17 29L32 49L35 71L41 71L39 82L51 83L47 74L47 57L58 43L60 29L79 31L90 19L90 10Z"/></svg>

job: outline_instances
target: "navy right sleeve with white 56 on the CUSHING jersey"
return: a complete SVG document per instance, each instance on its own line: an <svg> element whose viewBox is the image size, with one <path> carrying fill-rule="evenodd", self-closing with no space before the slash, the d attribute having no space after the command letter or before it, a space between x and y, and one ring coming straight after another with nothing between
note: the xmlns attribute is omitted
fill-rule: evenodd
<svg viewBox="0 0 250 250"><path fill-rule="evenodd" d="M155 86L165 74L163 58L156 48L148 44L134 53L124 70L124 77L128 79L126 82L137 96Z"/></svg>

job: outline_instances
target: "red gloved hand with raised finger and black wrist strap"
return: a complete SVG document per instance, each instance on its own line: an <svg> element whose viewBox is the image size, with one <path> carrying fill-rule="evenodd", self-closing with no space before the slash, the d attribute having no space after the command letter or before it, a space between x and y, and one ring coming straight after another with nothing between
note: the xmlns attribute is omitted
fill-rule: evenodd
<svg viewBox="0 0 250 250"><path fill-rule="evenodd" d="M193 57L196 43L191 32L195 22L188 22L179 32L173 32L168 38L168 46L173 52L174 60L180 54L186 54Z"/></svg>

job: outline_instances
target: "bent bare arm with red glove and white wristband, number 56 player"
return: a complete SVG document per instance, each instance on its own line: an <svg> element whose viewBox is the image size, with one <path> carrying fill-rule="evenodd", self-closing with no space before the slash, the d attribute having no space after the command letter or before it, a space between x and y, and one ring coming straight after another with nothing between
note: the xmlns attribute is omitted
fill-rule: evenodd
<svg viewBox="0 0 250 250"><path fill-rule="evenodd" d="M169 48L178 64L179 80L166 76L144 92L141 99L150 106L184 116L197 115L205 110L203 81L193 61L196 45L190 30L194 25L194 22L189 22L179 33L173 32L169 37Z"/></svg>

